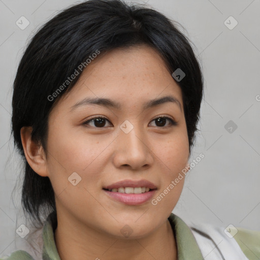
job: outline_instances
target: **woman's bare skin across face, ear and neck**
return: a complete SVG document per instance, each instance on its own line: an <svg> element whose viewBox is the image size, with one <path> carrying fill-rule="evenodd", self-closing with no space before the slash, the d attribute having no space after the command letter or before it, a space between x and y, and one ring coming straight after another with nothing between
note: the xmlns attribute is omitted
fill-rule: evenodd
<svg viewBox="0 0 260 260"><path fill-rule="evenodd" d="M145 102L166 95L180 103L142 110ZM108 98L121 109L86 105L70 112L86 97ZM156 124L161 115L174 119ZM103 128L92 117L103 116ZM125 134L120 125L134 126ZM49 116L47 151L21 129L26 159L34 171L48 176L55 192L58 226L55 242L61 260L177 259L175 237L168 221L184 178L158 202L125 205L111 199L103 187L124 179L153 182L156 198L188 166L189 144L182 93L165 62L149 46L139 45L100 54L83 71L74 88ZM158 126L159 125L159 126ZM81 181L68 180L74 172ZM129 225L133 233L120 230Z"/></svg>

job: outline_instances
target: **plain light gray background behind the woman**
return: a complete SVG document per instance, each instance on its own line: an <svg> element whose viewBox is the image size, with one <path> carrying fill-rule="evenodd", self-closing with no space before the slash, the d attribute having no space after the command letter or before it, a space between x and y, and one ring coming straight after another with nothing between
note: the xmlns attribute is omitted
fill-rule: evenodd
<svg viewBox="0 0 260 260"><path fill-rule="evenodd" d="M0 255L22 240L15 230L20 189L11 192L20 173L19 156L10 137L12 83L28 38L72 0L0 0ZM134 2L134 1L133 1ZM144 3L135 1L136 3ZM150 0L147 3L180 22L197 47L205 78L200 132L192 158L205 158L187 175L174 209L187 223L232 223L260 230L260 1ZM30 24L21 30L16 21L25 16ZM238 25L230 30L224 21L233 16ZM260 97L259 99L260 100ZM229 133L224 125L233 120L238 128ZM18 214L19 215L19 214Z"/></svg>

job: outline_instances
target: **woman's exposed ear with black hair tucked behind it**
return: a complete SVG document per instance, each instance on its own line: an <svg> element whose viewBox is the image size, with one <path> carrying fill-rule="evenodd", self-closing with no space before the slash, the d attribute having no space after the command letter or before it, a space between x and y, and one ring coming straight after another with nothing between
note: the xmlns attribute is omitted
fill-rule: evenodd
<svg viewBox="0 0 260 260"><path fill-rule="evenodd" d="M42 146L31 140L31 132L31 126L23 126L20 130L23 151L31 169L46 177L48 176L46 156Z"/></svg>

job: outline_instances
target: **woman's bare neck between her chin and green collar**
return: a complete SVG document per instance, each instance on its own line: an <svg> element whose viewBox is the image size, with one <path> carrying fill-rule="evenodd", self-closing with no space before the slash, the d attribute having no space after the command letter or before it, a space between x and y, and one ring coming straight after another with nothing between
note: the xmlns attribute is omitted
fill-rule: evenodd
<svg viewBox="0 0 260 260"><path fill-rule="evenodd" d="M177 259L176 241L168 220L141 239L118 239L85 225L71 223L58 219L54 233L61 260Z"/></svg>

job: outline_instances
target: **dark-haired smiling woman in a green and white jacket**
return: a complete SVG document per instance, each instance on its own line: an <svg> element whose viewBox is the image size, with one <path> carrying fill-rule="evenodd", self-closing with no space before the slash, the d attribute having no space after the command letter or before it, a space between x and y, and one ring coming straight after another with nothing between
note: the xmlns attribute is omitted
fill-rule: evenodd
<svg viewBox="0 0 260 260"><path fill-rule="evenodd" d="M47 218L43 259L204 259L212 244L214 259L260 258L259 233L229 238L172 213L202 96L189 41L152 9L91 0L37 32L15 78L12 130L22 205Z"/></svg>

